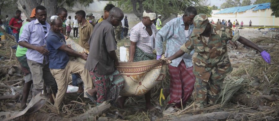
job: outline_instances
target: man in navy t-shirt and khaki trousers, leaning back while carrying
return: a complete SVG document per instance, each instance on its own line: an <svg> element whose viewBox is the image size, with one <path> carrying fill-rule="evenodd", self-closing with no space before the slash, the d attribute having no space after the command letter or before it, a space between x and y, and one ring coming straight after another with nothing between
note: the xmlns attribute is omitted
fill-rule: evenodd
<svg viewBox="0 0 279 121"><path fill-rule="evenodd" d="M93 82L84 64L69 61L69 56L77 56L86 60L85 53L78 53L66 45L65 37L61 32L63 21L58 16L51 16L51 30L46 35L47 50L49 50L49 68L57 83L58 92L55 98L55 106L60 107L67 91L69 76L78 73L84 83L84 97L86 94L96 91L93 89Z"/></svg>

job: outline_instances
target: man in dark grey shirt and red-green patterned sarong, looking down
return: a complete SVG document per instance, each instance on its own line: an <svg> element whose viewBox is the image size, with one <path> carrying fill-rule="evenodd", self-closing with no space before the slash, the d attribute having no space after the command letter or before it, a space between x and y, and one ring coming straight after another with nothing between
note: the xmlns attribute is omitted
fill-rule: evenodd
<svg viewBox="0 0 279 121"><path fill-rule="evenodd" d="M97 106L104 101L114 103L123 88L124 78L115 68L119 63L115 53L117 46L113 28L118 26L123 18L123 11L113 7L109 11L108 18L95 25L88 42L90 61L86 61L85 68L89 70L97 90ZM96 95L90 96L96 97Z"/></svg>

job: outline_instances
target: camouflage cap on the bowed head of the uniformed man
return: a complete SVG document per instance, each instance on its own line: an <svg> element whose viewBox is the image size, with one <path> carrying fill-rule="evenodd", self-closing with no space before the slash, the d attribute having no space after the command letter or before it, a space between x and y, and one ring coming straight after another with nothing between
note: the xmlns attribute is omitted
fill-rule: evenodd
<svg viewBox="0 0 279 121"><path fill-rule="evenodd" d="M193 33L194 34L201 34L205 28L206 25L209 23L207 16L205 14L199 14L197 16L195 16L194 18L194 29L193 29Z"/></svg>

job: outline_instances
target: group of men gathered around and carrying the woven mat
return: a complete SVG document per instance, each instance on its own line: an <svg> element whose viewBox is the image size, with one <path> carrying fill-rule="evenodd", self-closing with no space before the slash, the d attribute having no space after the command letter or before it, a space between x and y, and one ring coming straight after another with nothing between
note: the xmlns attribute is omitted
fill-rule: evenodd
<svg viewBox="0 0 279 121"><path fill-rule="evenodd" d="M20 11L16 11L18 18L14 20L20 21L20 14ZM115 33L123 30L123 35L127 36L127 16L124 18L123 11L113 4L104 8L104 16L97 21L92 14L88 14L86 18L83 10L75 13L73 21L71 16L66 20L67 16L68 11L63 7L59 8L48 23L47 9L39 5L33 9L30 19L24 25L20 25L22 22L11 25L15 36L19 36L16 56L22 66L25 81L21 108L26 107L32 83L32 96L41 94L45 86L46 96L60 108L71 74L81 78L82 81L76 84L83 83L84 90L79 86L79 92L84 92L84 97L89 98L96 106L108 101L112 104L117 102L119 108L124 108L128 97L119 96L124 78L116 68L119 61L115 52ZM195 7L187 7L183 16L170 20L164 26L161 16L151 10L143 12L142 20L130 32L128 62L158 60L162 54L172 61L168 65L170 85L163 89L165 97L170 95L168 107L185 105L193 91L197 101L195 110L215 104L224 78L232 71L227 43L237 48L238 41L254 48L270 63L268 52L239 36L238 31L233 32L225 20L211 24L205 14L197 14ZM158 24L155 25L157 17ZM231 23L230 20L228 23ZM119 25L122 26L117 29ZM78 53L67 45L64 35L69 35L71 28L79 31L78 44L89 53ZM74 38L77 38L77 32L74 33ZM166 42L165 53L163 42ZM153 50L156 50L156 55ZM193 59L194 51L198 54ZM69 56L81 57L87 60L86 64L69 61ZM151 92L146 92L144 97L146 109L153 109ZM198 113L202 113L202 110Z"/></svg>

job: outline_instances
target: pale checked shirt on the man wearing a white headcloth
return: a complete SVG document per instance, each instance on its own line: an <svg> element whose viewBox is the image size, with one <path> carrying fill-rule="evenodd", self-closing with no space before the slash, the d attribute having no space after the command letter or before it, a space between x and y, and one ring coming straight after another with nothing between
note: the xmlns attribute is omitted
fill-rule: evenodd
<svg viewBox="0 0 279 121"><path fill-rule="evenodd" d="M142 22L135 25L130 31L130 40L136 42L136 46L146 53L153 53L153 48L155 48L155 39L157 34L157 29L154 24L151 25L152 34L154 37L153 42L151 42L150 36L145 30L145 26ZM153 43L153 47L152 47Z"/></svg>

